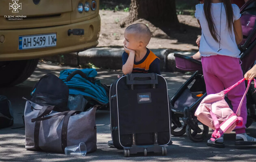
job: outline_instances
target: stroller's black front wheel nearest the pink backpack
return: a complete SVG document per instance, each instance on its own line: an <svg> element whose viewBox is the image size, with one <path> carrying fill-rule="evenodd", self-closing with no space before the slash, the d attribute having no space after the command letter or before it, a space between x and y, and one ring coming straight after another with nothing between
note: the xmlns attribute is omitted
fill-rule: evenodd
<svg viewBox="0 0 256 162"><path fill-rule="evenodd" d="M199 121L197 121L197 126L201 129L201 132L197 132L196 130L193 130L193 128L190 125L187 125L187 128L186 128L187 137L189 137L189 139L194 142L204 141L204 139L206 139L208 135L209 128L208 126L202 124Z"/></svg>

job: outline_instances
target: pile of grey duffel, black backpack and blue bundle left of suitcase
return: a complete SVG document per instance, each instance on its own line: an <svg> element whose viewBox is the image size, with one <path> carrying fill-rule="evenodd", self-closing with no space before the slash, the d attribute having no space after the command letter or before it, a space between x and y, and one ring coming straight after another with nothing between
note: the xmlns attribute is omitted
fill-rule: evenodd
<svg viewBox="0 0 256 162"><path fill-rule="evenodd" d="M60 78L41 77L31 99L24 98L26 149L64 153L80 142L87 153L97 149L95 111L108 104L108 97L95 75L95 69L72 69L63 70Z"/></svg>

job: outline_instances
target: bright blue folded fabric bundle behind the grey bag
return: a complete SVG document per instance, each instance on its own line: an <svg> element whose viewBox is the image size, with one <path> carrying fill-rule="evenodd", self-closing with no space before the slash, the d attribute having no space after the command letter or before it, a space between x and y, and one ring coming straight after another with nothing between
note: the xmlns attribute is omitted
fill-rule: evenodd
<svg viewBox="0 0 256 162"><path fill-rule="evenodd" d="M76 70L81 70L88 78L97 76L97 71L92 68L62 70L59 78L69 87L69 94L82 94L87 100L93 99L99 104L107 104L108 96L106 95L106 90L102 87L100 80L94 79L94 81L89 81L81 75L76 74L70 81L66 81L69 74Z"/></svg>

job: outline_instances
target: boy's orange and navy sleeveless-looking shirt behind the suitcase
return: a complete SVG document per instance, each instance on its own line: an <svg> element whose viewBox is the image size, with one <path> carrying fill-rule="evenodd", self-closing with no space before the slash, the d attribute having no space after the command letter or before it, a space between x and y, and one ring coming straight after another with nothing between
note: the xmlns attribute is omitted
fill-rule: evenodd
<svg viewBox="0 0 256 162"><path fill-rule="evenodd" d="M126 63L129 54L124 52L122 55L123 65ZM156 73L160 75L160 59L147 48L147 53L142 60L133 63L132 73Z"/></svg>

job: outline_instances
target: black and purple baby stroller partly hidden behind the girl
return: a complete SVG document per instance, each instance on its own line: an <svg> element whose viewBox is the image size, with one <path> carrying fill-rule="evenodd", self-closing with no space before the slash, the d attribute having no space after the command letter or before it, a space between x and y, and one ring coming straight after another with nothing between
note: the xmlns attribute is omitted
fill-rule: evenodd
<svg viewBox="0 0 256 162"><path fill-rule="evenodd" d="M243 72L249 70L256 60L256 0L249 0L241 8L241 24L243 41L239 45L241 51L241 67ZM202 63L188 56L174 54L176 67L184 71L193 71L193 75L180 87L171 98L172 129L171 134L182 136L185 132L194 142L203 141L209 128L199 122L194 113L202 99L207 95L202 74ZM248 117L246 126L256 120L256 93L254 86L249 85L247 93ZM228 98L226 98L227 102ZM230 108L232 105L230 104Z"/></svg>

